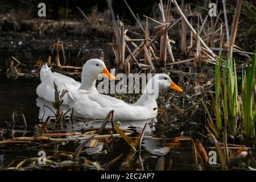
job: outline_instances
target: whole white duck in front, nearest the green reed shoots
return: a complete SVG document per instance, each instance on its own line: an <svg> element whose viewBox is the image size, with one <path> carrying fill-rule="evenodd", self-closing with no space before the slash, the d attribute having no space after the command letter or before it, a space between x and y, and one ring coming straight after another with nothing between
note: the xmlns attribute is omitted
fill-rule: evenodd
<svg viewBox="0 0 256 182"><path fill-rule="evenodd" d="M155 75L148 81L142 96L135 104L127 104L117 98L95 94L86 90L68 90L68 105L74 109L73 115L88 119L104 119L110 110L114 110L114 119L142 120L155 118L157 115L159 90L166 88L183 91L166 74Z"/></svg>

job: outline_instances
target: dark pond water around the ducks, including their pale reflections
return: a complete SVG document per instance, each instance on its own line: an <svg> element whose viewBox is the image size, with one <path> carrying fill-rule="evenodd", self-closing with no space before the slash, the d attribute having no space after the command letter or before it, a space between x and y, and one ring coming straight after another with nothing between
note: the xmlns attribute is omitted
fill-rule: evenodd
<svg viewBox="0 0 256 182"><path fill-rule="evenodd" d="M108 46L108 45L107 45ZM103 47L106 47L104 44ZM103 49L105 51L105 48ZM102 49L94 49L94 51L85 51L82 53L80 60L86 60L92 57L100 57ZM77 55L76 51L71 51L73 56ZM47 57L51 55L50 49L45 49L44 51L38 49L18 49L15 51L10 50L0 50L0 61L1 63L6 60L10 60L11 56L16 57L22 63L19 65L19 70L35 72L34 67L36 60L47 60ZM110 53L105 52L105 59L110 60ZM106 62L107 67L112 67L113 63ZM4 65L4 64L2 64ZM43 110L43 105L51 106L50 102L44 101L42 98L36 96L36 86L40 83L38 77L18 77L16 79L7 78L3 74L3 66L1 68L2 75L0 77L0 131L2 133L2 139L9 139L12 137L22 137L31 136L38 134L36 126L42 124L43 115L51 115L51 111L48 109ZM15 125L13 126L13 113L15 118ZM22 117L20 113L24 114L26 118L27 127L26 131L24 129ZM184 127L181 125L175 129L175 121L172 122L174 129L168 133L168 136L162 139L144 139L142 142L141 158L143 161L144 169L155 169L156 163L161 156L164 156L164 165L166 168L170 169L195 169L195 162L193 158L193 150L191 140L175 140L168 138L175 138L184 134L196 135L196 128L200 125L195 123L195 119L201 122L202 116L197 118L191 118L191 122L187 123ZM129 129L134 133L131 137L136 137L137 133L141 133L142 128L145 123L150 123L151 121L141 121L141 122L121 122L122 129ZM180 121L178 121L179 123ZM9 126L10 125L10 126ZM64 129L68 132L77 131L82 128L92 128L100 127L101 122L88 123L85 121L80 121L73 119L73 121L68 121L65 123ZM111 127L110 124L107 127ZM5 129L5 130L3 130ZM193 129L193 134L191 130ZM154 128L152 129L154 130ZM190 132L190 133L189 133ZM1 133L1 132L0 132ZM151 129L149 126L146 128L146 136L151 136ZM197 137L199 135L197 134ZM94 141L93 147L92 143L86 144L86 147L81 152L81 155L92 162L98 162L101 165L109 163L111 160L123 154L122 158L110 167L110 169L118 169L120 167L125 169L137 169L139 168L138 162L134 162L132 166L127 167L125 157L130 154L130 146L122 138L114 138L112 141L112 149L104 144L104 140L99 139ZM0 169L7 169L7 167L15 167L19 162L24 159L38 157L38 151L46 151L47 156L60 154L65 152L65 154L73 154L76 148L81 144L81 142L60 142L60 143L44 143L44 144L10 144L0 146ZM109 144L110 145L110 144ZM135 155L138 158L138 154ZM51 169L58 169L61 167L48 167ZM32 168L37 169L37 168ZM69 167L64 169L77 169L75 167Z"/></svg>

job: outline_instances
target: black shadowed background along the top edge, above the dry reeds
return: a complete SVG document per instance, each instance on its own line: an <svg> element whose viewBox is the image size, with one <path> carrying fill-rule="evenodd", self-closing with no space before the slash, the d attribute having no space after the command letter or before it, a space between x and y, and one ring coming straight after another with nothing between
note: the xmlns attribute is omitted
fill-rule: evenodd
<svg viewBox="0 0 256 182"><path fill-rule="evenodd" d="M36 10L38 10L37 6L40 2L46 3L47 19L55 20L65 19L65 9L67 8L67 5L69 9L68 19L77 18L80 15L76 9L77 6L80 7L85 14L89 14L92 8L96 5L99 11L107 9L106 0L2 0L0 1L0 14L10 13L10 11L26 11L28 16L30 16L29 18L38 18ZM127 3L129 3L129 6L135 14L151 15L152 6L155 3L159 3L159 0L127 0ZM166 1L163 1L163 3L166 3ZM180 4L181 2L178 0L177 3ZM197 5L207 7L209 1L189 0L185 1L185 3L189 3L192 8L195 8ZM134 18L127 9L123 0L112 0L112 6L114 13L117 14L119 18L126 19L127 22L134 23Z"/></svg>

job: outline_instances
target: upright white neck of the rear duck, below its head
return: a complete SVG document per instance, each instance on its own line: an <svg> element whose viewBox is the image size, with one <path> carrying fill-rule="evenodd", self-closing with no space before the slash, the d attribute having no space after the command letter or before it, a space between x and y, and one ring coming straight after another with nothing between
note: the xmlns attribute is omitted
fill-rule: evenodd
<svg viewBox="0 0 256 182"><path fill-rule="evenodd" d="M79 89L88 90L89 92L98 93L96 89L97 73L92 73L89 68L82 69L81 86Z"/></svg>

